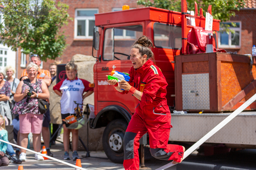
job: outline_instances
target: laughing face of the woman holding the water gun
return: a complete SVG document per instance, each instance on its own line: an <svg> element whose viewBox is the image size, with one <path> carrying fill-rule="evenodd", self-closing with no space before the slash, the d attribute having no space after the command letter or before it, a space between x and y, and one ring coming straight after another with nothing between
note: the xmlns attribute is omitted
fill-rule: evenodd
<svg viewBox="0 0 256 170"><path fill-rule="evenodd" d="M130 60L134 69L138 69L146 62L147 55L141 56L138 48L132 48L130 52Z"/></svg>

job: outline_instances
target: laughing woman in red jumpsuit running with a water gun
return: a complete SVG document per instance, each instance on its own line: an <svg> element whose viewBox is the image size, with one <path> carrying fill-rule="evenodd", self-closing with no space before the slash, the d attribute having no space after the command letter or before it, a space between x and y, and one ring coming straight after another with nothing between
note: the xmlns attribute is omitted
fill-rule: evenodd
<svg viewBox="0 0 256 170"><path fill-rule="evenodd" d="M178 163L182 161L185 151L183 146L167 144L172 128L165 98L167 82L162 71L152 62L155 61L154 54L149 47L153 47L153 44L146 36L140 37L133 44L130 52L133 66L129 70L129 82L122 80L118 84L116 80L108 80L121 94L130 92L139 99L124 135L126 170L139 170L139 139L147 132L153 157Z"/></svg>

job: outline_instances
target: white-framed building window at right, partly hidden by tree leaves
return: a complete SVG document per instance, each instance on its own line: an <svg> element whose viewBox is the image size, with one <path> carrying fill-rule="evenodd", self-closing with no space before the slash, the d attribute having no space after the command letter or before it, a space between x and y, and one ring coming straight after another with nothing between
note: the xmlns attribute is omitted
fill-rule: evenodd
<svg viewBox="0 0 256 170"><path fill-rule="evenodd" d="M241 22L236 21L236 26L232 26L231 22L224 22L224 25L229 25L229 28L235 33L219 32L219 47L220 48L240 48L241 47Z"/></svg>

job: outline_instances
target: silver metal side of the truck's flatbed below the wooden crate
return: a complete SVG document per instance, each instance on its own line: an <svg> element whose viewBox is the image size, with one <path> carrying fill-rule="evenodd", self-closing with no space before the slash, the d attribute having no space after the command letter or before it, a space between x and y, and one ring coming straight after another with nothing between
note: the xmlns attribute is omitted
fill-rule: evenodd
<svg viewBox="0 0 256 170"><path fill-rule="evenodd" d="M171 114L169 141L197 142L231 113ZM256 112L241 112L206 143L256 149Z"/></svg>

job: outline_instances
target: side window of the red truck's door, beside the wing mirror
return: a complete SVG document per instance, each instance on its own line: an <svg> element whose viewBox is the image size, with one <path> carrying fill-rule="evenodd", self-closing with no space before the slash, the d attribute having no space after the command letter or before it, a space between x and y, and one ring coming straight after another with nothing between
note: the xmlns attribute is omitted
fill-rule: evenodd
<svg viewBox="0 0 256 170"><path fill-rule="evenodd" d="M130 59L132 44L143 35L142 26L121 26L105 30L103 60Z"/></svg>

